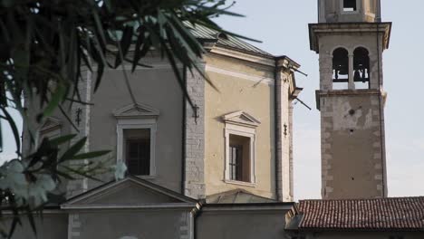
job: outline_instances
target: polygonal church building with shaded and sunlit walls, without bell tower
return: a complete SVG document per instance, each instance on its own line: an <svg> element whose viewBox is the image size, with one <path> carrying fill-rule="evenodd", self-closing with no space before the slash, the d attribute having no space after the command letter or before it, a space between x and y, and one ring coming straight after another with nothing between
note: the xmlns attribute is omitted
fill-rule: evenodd
<svg viewBox="0 0 424 239"><path fill-rule="evenodd" d="M88 136L84 151L111 149L101 160L124 162L129 175L118 182L113 172L99 176L104 183L69 181L62 188L66 201L44 215L42 238L193 238L196 231L198 238L217 238L211 234L217 222L226 222L226 236L239 238L252 234L242 230L246 213L274 221L258 216L252 228L283 234L270 229L284 225L294 201L293 101L302 91L294 72L300 65L225 33L188 29L207 49L201 67L211 82L187 72L193 105L169 62L152 51L142 62L151 68L128 73L136 101L122 69L106 70L96 93L96 76L87 70L79 89L92 105L73 103L72 122L57 112L40 126L40 140Z"/></svg>

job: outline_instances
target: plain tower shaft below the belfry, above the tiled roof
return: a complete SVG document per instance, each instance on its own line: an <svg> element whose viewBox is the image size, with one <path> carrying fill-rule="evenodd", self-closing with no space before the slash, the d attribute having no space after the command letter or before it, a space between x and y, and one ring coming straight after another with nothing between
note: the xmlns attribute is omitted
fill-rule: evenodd
<svg viewBox="0 0 424 239"><path fill-rule="evenodd" d="M323 199L387 195L379 97L373 90L321 94Z"/></svg>

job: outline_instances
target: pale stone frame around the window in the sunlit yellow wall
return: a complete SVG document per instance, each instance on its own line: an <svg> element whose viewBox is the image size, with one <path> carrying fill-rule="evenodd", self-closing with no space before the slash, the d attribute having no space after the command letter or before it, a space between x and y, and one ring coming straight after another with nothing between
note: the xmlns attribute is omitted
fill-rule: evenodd
<svg viewBox="0 0 424 239"><path fill-rule="evenodd" d="M242 136L249 138L250 143L250 180L249 182L238 181L231 179L230 177L230 135ZM228 184L236 184L243 186L256 186L256 178L255 178L255 141L256 141L256 133L255 128L250 128L242 125L231 124L226 122L225 128L225 141L226 141L226 168L225 168L225 182Z"/></svg>

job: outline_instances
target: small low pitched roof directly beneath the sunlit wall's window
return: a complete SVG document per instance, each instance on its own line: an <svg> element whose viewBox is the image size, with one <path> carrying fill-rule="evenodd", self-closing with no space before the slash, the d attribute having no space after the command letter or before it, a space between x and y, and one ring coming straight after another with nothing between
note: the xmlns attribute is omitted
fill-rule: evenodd
<svg viewBox="0 0 424 239"><path fill-rule="evenodd" d="M235 189L224 193L207 196L207 204L252 204L275 203L276 201L263 196L256 196L243 189Z"/></svg>

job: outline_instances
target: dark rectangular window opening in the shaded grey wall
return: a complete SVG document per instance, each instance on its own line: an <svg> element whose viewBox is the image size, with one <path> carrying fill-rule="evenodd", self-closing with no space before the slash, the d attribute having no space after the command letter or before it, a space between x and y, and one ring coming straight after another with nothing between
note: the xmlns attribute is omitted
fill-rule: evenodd
<svg viewBox="0 0 424 239"><path fill-rule="evenodd" d="M124 129L125 161L130 175L150 175L150 129Z"/></svg>

